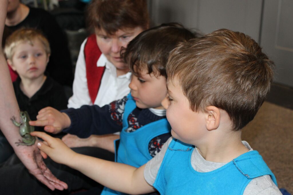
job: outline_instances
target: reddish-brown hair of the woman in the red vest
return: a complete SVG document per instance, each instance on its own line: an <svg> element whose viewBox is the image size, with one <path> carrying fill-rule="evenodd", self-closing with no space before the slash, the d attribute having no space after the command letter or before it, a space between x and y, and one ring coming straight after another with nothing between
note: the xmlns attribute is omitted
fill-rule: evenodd
<svg viewBox="0 0 293 195"><path fill-rule="evenodd" d="M149 27L146 0L93 0L88 6L88 25L114 34L119 29Z"/></svg>

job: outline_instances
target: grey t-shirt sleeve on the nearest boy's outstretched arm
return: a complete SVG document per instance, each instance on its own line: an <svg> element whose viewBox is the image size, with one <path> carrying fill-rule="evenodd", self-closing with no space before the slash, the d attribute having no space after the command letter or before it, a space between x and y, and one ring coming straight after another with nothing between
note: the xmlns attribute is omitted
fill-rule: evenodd
<svg viewBox="0 0 293 195"><path fill-rule="evenodd" d="M151 186L154 184L158 171L161 167L161 163L165 156L165 153L168 149L170 142L172 141L173 137L170 137L166 143L162 146L161 151L152 158L149 162L147 162L144 168L144 179L150 184Z"/></svg>

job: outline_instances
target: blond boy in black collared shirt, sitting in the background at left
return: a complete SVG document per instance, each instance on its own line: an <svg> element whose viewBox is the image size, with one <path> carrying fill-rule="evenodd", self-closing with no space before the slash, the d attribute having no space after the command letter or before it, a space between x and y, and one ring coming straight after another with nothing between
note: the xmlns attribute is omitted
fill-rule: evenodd
<svg viewBox="0 0 293 195"><path fill-rule="evenodd" d="M38 111L44 106L52 106L57 110L67 108L64 87L44 74L51 50L48 40L41 32L32 28L14 31L6 39L4 53L8 65L19 75L13 82L19 108L27 111L30 119L36 120ZM44 129L36 127L35 130ZM2 163L13 151L8 153L11 146L6 139L1 139L0 143Z"/></svg>

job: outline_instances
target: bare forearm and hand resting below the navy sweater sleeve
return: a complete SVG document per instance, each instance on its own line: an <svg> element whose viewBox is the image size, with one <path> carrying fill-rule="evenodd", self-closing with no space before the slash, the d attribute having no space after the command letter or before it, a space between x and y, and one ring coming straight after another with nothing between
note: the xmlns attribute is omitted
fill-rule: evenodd
<svg viewBox="0 0 293 195"><path fill-rule="evenodd" d="M110 152L115 152L114 140L119 139L119 135L107 134L107 135L91 135L88 138L82 139L76 135L67 134L62 137L62 141L70 148L74 147L98 147Z"/></svg>

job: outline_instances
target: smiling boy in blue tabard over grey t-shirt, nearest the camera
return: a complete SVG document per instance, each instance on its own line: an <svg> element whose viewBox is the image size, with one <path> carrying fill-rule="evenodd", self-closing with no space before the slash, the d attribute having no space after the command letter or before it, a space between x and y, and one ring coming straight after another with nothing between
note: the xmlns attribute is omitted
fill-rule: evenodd
<svg viewBox="0 0 293 195"><path fill-rule="evenodd" d="M221 29L181 43L166 66L162 101L171 137L145 165L82 156L45 133L39 148L112 189L143 194L281 194L274 174L241 129L265 100L273 62L249 36ZM70 159L66 160L66 159Z"/></svg>

